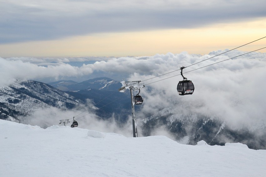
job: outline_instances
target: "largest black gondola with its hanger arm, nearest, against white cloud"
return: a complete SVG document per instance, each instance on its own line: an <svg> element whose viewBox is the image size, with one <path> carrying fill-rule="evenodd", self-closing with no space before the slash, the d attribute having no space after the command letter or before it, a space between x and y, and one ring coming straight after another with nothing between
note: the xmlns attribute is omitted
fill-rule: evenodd
<svg viewBox="0 0 266 177"><path fill-rule="evenodd" d="M194 92L194 89L195 89L194 84L192 83L191 80L187 80L187 78L185 78L183 76L182 71L184 68L185 68L184 66L180 67L183 80L179 81L176 89L177 89L179 95L192 95Z"/></svg>

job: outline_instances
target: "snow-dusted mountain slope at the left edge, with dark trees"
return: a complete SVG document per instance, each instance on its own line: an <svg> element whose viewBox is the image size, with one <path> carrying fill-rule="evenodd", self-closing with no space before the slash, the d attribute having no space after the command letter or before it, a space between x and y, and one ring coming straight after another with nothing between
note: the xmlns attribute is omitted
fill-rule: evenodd
<svg viewBox="0 0 266 177"><path fill-rule="evenodd" d="M80 100L48 84L19 81L0 86L0 118L18 122L18 116L29 115L40 108L70 109Z"/></svg>

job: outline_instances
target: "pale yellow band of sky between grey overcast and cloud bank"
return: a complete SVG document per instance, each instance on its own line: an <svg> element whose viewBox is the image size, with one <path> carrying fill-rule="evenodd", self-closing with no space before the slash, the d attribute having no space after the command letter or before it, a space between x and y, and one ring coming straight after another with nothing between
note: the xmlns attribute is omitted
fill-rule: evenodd
<svg viewBox="0 0 266 177"><path fill-rule="evenodd" d="M150 56L180 53L209 54L233 49L266 36L266 19L214 24L192 29L96 33L58 40L0 45L0 57ZM266 38L238 50L266 47ZM264 53L266 49L259 50Z"/></svg>

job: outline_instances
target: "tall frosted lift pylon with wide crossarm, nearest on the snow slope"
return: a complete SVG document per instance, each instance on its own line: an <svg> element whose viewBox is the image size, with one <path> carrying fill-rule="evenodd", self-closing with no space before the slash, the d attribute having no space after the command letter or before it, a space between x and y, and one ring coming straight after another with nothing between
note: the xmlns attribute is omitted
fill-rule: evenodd
<svg viewBox="0 0 266 177"><path fill-rule="evenodd" d="M134 96L133 91L139 90L144 87L143 83L140 83L141 81L122 81L122 87L118 89L119 92L125 92L126 89L130 90L131 94L131 113L132 113L132 125L133 125L133 137L138 137L138 131L137 131L137 122L135 117L135 102L134 102Z"/></svg>

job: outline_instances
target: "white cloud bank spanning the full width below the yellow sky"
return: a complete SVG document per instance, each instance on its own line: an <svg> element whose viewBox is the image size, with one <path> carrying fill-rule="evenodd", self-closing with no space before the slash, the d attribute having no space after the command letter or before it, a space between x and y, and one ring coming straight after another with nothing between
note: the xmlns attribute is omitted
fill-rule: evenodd
<svg viewBox="0 0 266 177"><path fill-rule="evenodd" d="M143 82L145 87L140 90L144 103L136 112L137 119L146 118L145 116L156 113L162 108L184 105L189 108L188 112L216 115L233 127L239 124L254 127L259 126L259 124L265 125L266 53L253 52L227 60L245 53L234 50L187 67L183 73L194 83L195 92L193 95L178 95L176 86L180 80L183 80L180 70L178 70L181 66L189 66L223 52L221 50L213 51L209 55L190 55L182 52L180 54L168 53L143 57L106 58L106 60L98 60L94 64L84 64L81 67L63 63L68 62L68 60L81 60L73 58L59 60L55 63L49 63L52 62L52 59L49 59L49 62L46 62L48 59L42 59L39 63L33 60L34 63L30 61L32 59L0 58L0 74L2 76L0 81L1 84L8 84L14 79L34 79L37 77L54 77L56 79L63 75L80 77L99 71L112 72L117 75L128 75L125 78L128 81L145 80ZM204 67L222 60L227 61ZM44 67L40 66L40 63L48 63L49 65ZM165 74L168 72L171 73ZM156 77L161 74L165 75ZM102 76L108 77L108 75L99 75L99 77ZM153 77L156 78L150 79ZM114 122L112 123L113 127L117 126ZM99 127L101 131L104 127L108 127L103 126L108 125L104 122L95 122L94 125ZM131 132L130 123L129 127Z"/></svg>

